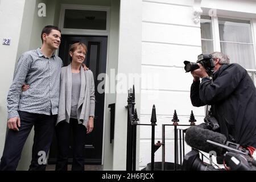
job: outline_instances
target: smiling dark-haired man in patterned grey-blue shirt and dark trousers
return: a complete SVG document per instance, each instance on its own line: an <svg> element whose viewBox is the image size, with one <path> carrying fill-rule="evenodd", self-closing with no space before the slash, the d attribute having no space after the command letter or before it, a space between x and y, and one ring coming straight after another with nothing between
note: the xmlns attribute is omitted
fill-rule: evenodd
<svg viewBox="0 0 256 182"><path fill-rule="evenodd" d="M45 170L40 156L47 156L51 145L59 104L60 71L63 65L54 51L60 46L61 31L46 26L41 34L42 47L20 56L7 96L8 122L0 170L15 170L28 134L35 136L29 170ZM22 92L23 83L30 89Z"/></svg>

